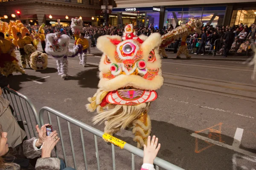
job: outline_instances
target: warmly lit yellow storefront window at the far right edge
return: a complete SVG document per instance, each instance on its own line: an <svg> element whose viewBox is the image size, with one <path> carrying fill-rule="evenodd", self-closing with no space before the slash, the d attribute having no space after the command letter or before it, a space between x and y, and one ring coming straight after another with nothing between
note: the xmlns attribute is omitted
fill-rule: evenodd
<svg viewBox="0 0 256 170"><path fill-rule="evenodd" d="M256 22L256 9L244 9L244 10L234 10L230 26L246 24L250 26L252 23Z"/></svg>

